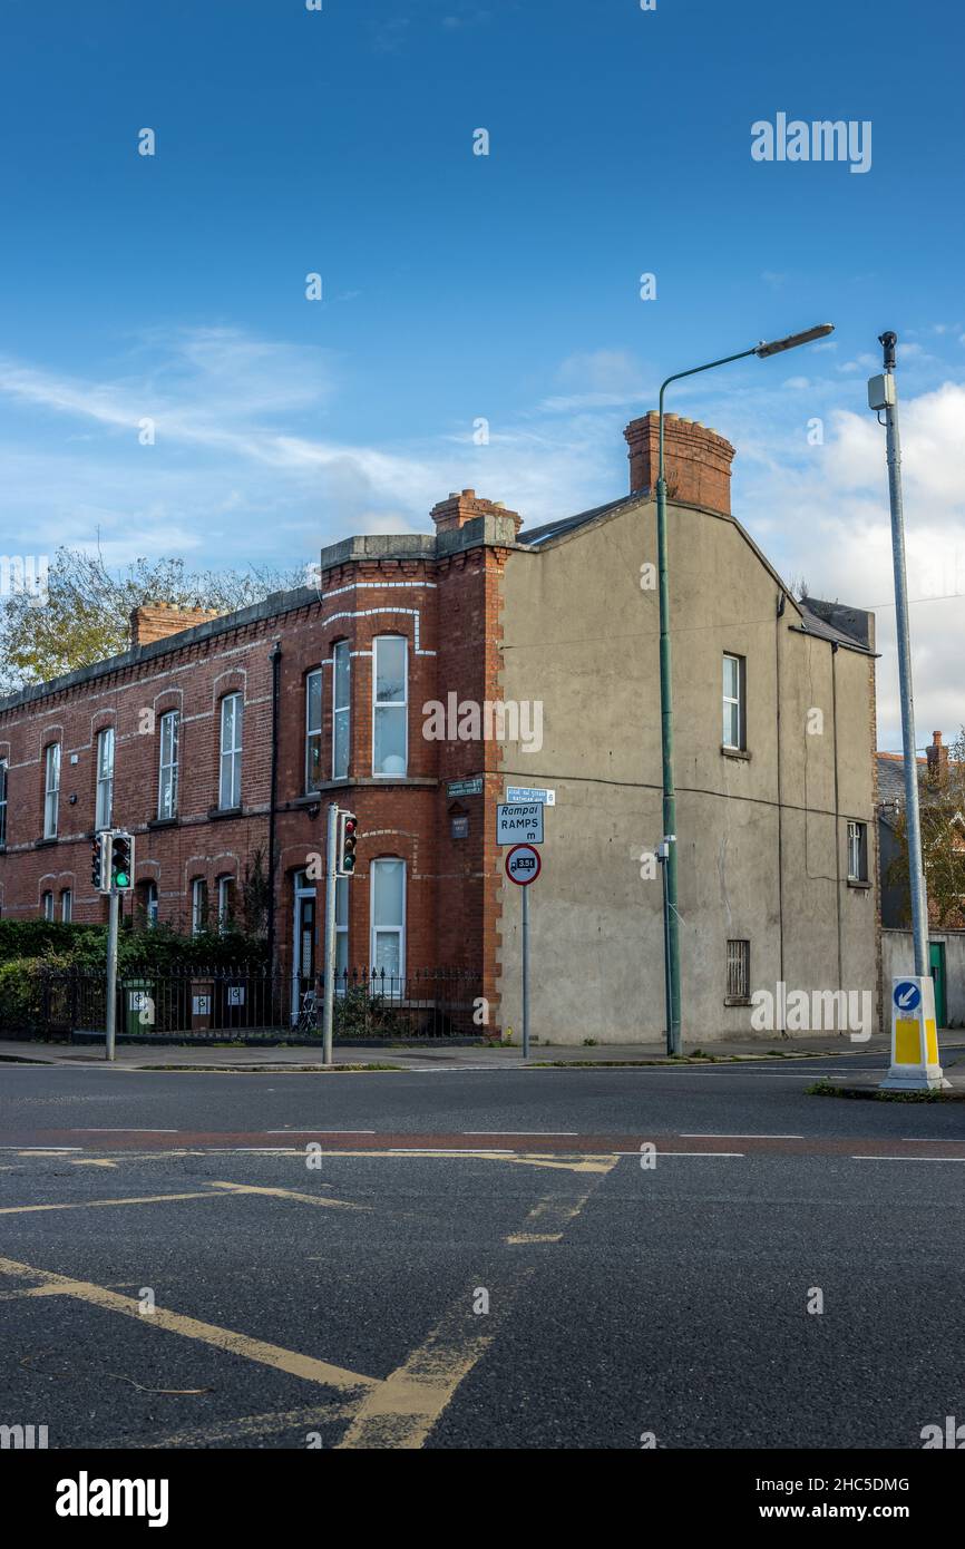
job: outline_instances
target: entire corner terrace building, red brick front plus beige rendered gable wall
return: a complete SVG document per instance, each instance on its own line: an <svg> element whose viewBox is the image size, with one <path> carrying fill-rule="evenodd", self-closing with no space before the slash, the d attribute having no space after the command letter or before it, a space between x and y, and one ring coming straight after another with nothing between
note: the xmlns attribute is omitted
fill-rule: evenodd
<svg viewBox="0 0 965 1549"><path fill-rule="evenodd" d="M339 967L463 970L489 1027L517 1033L520 889L496 804L544 787L533 1033L660 1036L657 415L624 434L630 488L590 511L520 531L463 489L432 534L345 539L314 584L237 613L143 607L124 655L0 700L3 914L104 919L90 841L122 826L146 915L240 919L260 891L274 957L308 977L338 801L361 829ZM765 1032L754 996L779 984L847 1007L880 979L874 618L793 596L731 513L733 455L668 415L674 843L700 1041Z"/></svg>

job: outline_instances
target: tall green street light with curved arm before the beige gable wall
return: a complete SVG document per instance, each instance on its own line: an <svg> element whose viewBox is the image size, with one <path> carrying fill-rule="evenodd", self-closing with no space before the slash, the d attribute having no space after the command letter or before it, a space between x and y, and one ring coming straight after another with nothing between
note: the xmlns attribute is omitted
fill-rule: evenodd
<svg viewBox="0 0 965 1549"><path fill-rule="evenodd" d="M663 472L663 395L671 383L683 376L695 376L699 372L709 372L716 366L730 366L731 361L742 361L748 355L767 359L781 355L784 350L795 350L799 344L810 344L813 339L826 339L835 331L833 322L819 322L804 333L788 333L784 339L767 342L762 339L750 350L739 350L737 355L725 355L719 361L708 361L706 366L692 366L689 372L675 372L660 384L660 460L657 469L657 576L660 598L660 753L663 762L663 840L668 846L665 863L663 889L663 939L665 939L665 999L666 999L666 1052L678 1055L680 1046L680 932L677 917L677 793L674 790L674 694L671 682L671 592L668 584L668 541L666 541L666 479Z"/></svg>

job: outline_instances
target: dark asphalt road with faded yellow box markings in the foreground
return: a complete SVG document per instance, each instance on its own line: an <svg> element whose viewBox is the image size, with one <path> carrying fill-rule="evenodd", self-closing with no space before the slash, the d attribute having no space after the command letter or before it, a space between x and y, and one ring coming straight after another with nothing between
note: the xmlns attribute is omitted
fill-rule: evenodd
<svg viewBox="0 0 965 1549"><path fill-rule="evenodd" d="M0 1425L920 1448L965 1416L965 1104L826 1069L2 1067Z"/></svg>

